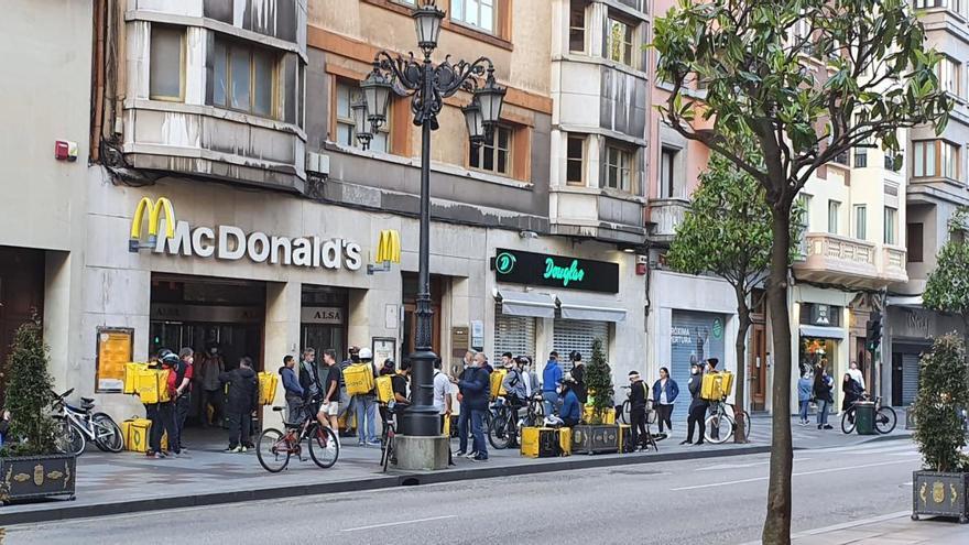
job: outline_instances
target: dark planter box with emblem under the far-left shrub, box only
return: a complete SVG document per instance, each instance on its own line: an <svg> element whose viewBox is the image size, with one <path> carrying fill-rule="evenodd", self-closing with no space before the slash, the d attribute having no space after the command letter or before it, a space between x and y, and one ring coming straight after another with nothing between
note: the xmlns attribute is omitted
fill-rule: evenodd
<svg viewBox="0 0 969 545"><path fill-rule="evenodd" d="M74 499L74 455L0 458L0 503L45 498Z"/></svg>

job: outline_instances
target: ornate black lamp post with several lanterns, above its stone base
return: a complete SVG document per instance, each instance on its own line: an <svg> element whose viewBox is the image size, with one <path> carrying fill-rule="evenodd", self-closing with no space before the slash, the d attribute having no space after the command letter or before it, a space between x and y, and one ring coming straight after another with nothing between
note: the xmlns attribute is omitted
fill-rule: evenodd
<svg viewBox="0 0 969 545"><path fill-rule="evenodd" d="M366 111L355 110L358 116L358 137L364 146L386 122L386 107L391 91L411 98L414 124L421 127L421 248L418 255L417 308L415 351L411 355L412 404L403 417L401 433L432 437L440 434L437 411L434 410L434 360L432 351L431 310L431 131L437 130L437 113L444 99L464 89L471 92L471 103L462 108L470 133L471 144L480 145L491 138L501 116L505 89L494 80L494 66L487 57L473 63L460 61L451 64L447 58L435 65L431 54L437 47L437 36L444 11L434 0L424 0L413 10L417 31L417 46L424 53L418 59L411 53L406 57L391 56L381 51L373 59L373 70L360 83ZM371 130L360 132L366 113Z"/></svg>

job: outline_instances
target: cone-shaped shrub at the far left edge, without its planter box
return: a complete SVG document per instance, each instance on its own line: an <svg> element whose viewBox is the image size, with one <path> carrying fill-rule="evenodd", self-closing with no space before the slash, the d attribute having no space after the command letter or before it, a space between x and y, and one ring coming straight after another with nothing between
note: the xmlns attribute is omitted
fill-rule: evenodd
<svg viewBox="0 0 969 545"><path fill-rule="evenodd" d="M7 359L4 407L10 428L3 449L12 456L48 455L54 448L56 426L50 416L54 381L47 372L47 347L41 324L28 321L17 329Z"/></svg>

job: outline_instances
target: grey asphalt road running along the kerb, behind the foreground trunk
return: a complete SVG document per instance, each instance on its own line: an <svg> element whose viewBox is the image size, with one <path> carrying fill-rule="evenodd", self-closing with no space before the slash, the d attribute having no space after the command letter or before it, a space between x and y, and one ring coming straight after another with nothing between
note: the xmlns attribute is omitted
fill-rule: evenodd
<svg viewBox="0 0 969 545"><path fill-rule="evenodd" d="M795 454L795 531L910 505L908 440ZM759 537L767 456L189 508L7 528L21 544L737 544Z"/></svg>

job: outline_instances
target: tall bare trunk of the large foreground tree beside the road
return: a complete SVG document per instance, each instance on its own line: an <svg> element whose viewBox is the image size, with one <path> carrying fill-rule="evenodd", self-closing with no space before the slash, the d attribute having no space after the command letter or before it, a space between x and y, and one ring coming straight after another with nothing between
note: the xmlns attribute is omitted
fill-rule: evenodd
<svg viewBox="0 0 969 545"><path fill-rule="evenodd" d="M786 200L786 199L785 199ZM791 543L791 318L787 310L787 254L791 248L791 205L771 206L774 247L767 280L767 304L773 335L774 383L770 486L764 545Z"/></svg>

